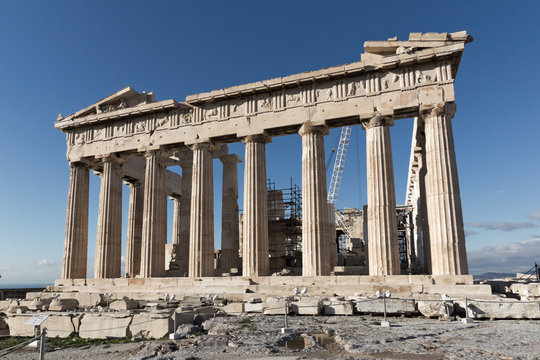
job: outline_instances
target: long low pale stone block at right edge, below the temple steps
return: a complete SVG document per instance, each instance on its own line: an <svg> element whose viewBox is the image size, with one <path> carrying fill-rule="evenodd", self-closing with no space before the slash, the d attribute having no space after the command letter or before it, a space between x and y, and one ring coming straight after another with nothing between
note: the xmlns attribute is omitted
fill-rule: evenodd
<svg viewBox="0 0 540 360"><path fill-rule="evenodd" d="M465 316L465 301L456 301L456 311ZM473 319L540 319L540 303L524 301L468 301L467 317Z"/></svg>

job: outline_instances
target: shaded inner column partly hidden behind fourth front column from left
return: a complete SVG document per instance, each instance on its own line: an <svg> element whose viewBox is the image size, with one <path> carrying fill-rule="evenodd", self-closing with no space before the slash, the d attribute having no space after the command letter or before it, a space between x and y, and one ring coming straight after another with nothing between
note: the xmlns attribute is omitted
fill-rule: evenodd
<svg viewBox="0 0 540 360"><path fill-rule="evenodd" d="M182 196L180 202L179 238L176 247L176 263L181 275L187 276L189 268L189 227L191 221L191 179L193 177L193 160L191 150L189 161L183 161Z"/></svg>

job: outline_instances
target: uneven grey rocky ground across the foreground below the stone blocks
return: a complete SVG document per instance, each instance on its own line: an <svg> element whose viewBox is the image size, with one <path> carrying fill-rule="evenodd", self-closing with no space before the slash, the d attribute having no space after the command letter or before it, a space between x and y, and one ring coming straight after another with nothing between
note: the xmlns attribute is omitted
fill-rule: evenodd
<svg viewBox="0 0 540 360"><path fill-rule="evenodd" d="M540 321L439 321L425 318L297 316L216 317L180 340L50 349L45 359L540 359ZM192 334L187 335L188 332ZM35 359L23 350L7 359Z"/></svg>

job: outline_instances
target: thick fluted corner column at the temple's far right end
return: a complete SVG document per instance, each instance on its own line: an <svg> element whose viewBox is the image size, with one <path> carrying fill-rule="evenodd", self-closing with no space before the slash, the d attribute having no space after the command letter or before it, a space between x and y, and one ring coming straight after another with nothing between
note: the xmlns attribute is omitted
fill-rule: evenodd
<svg viewBox="0 0 540 360"><path fill-rule="evenodd" d="M433 275L468 273L451 119L454 103L422 109L426 134L426 195Z"/></svg>

